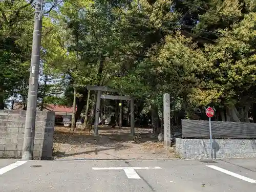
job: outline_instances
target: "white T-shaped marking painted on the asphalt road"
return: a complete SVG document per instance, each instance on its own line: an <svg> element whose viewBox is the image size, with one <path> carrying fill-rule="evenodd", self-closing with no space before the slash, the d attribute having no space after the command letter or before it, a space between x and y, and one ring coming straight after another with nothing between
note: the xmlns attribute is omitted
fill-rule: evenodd
<svg viewBox="0 0 256 192"><path fill-rule="evenodd" d="M135 169L161 169L161 167L93 167L93 170L124 170L129 179L140 179Z"/></svg>

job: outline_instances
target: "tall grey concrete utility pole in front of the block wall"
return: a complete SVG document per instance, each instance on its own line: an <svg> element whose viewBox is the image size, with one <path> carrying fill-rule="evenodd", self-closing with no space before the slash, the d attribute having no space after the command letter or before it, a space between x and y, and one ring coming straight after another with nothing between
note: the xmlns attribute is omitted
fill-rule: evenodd
<svg viewBox="0 0 256 192"><path fill-rule="evenodd" d="M26 122L24 130L24 142L22 159L33 159L34 137L35 137L35 116L37 106L37 90L38 90L38 76L39 76L39 62L40 62L40 47L41 47L41 28L42 28L42 2L43 0L36 0L35 7L35 23L33 32L33 43L31 53L31 66L29 77L29 92Z"/></svg>

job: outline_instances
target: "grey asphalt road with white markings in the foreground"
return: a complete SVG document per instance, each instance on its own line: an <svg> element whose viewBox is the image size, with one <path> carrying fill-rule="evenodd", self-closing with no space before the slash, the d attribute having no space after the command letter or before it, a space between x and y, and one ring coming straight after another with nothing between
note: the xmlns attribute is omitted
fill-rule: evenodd
<svg viewBox="0 0 256 192"><path fill-rule="evenodd" d="M0 191L252 192L255 160L0 160Z"/></svg>

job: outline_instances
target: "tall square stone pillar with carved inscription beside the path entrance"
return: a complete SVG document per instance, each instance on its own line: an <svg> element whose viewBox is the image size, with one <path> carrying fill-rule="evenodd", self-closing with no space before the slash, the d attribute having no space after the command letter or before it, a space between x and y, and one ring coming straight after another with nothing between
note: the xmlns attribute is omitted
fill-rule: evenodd
<svg viewBox="0 0 256 192"><path fill-rule="evenodd" d="M163 134L164 146L170 146L170 95L165 93L163 95Z"/></svg>

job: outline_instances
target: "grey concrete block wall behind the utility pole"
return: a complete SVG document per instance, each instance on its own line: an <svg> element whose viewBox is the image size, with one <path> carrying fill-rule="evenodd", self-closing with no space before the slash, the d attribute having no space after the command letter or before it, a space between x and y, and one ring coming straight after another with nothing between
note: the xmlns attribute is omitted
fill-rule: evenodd
<svg viewBox="0 0 256 192"><path fill-rule="evenodd" d="M0 110L0 158L21 158L26 111ZM54 133L54 112L37 111L34 159L51 159Z"/></svg>

